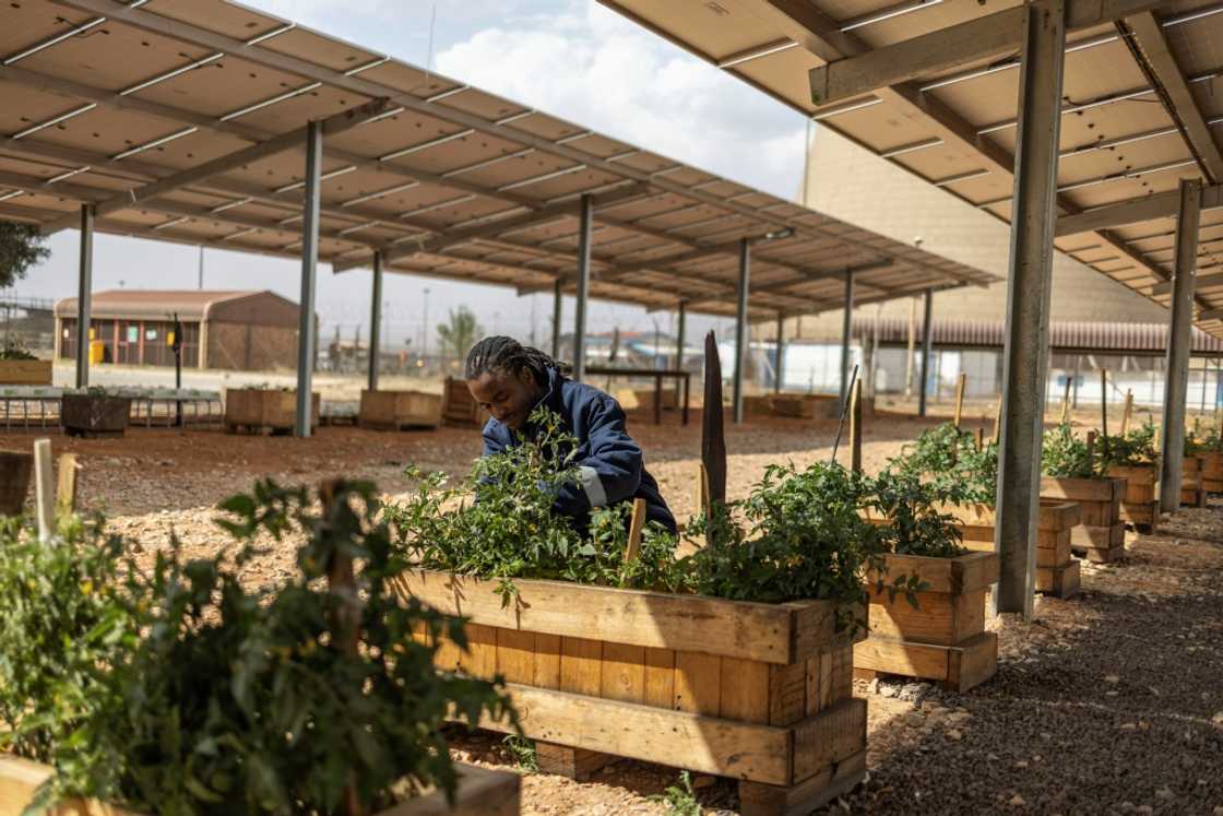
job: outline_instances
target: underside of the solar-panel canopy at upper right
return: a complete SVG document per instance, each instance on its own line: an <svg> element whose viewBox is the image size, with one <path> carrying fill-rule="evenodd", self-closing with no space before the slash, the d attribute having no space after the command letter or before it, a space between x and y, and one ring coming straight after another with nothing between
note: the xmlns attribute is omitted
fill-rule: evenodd
<svg viewBox="0 0 1223 816"><path fill-rule="evenodd" d="M1018 0L600 0L1002 219ZM1223 4L1066 0L1057 246L1167 305L1180 179L1206 181L1199 273L1223 273ZM819 102L815 102L818 95ZM1196 318L1223 336L1223 274Z"/></svg>

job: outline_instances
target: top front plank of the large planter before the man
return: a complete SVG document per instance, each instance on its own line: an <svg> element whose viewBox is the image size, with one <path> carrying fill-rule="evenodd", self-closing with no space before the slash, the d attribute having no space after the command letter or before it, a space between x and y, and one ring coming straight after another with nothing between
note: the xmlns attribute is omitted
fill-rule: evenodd
<svg viewBox="0 0 1223 816"><path fill-rule="evenodd" d="M589 637L675 651L708 652L767 663L795 662L799 637L794 610L785 604L724 601L693 595L668 595L563 581L516 581L520 602L503 607L495 581L410 570L396 582L412 595L450 615L476 624L522 629L548 635ZM808 602L824 608L832 620L832 602ZM819 615L812 615L817 618ZM812 635L804 644L832 628Z"/></svg>

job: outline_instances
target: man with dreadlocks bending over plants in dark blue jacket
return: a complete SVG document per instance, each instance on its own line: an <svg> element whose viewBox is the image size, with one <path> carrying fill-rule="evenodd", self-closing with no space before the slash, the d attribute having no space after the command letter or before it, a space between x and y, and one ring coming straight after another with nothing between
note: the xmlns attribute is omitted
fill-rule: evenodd
<svg viewBox="0 0 1223 816"><path fill-rule="evenodd" d="M559 414L565 432L577 439L580 482L560 489L555 513L585 530L593 508L640 498L646 500L647 521L675 532L675 517L646 470L641 447L625 429L615 399L575 383L552 357L506 336L477 343L467 355L465 373L472 398L490 416L484 425L486 456L520 444L515 434L532 438L528 420L541 406Z"/></svg>

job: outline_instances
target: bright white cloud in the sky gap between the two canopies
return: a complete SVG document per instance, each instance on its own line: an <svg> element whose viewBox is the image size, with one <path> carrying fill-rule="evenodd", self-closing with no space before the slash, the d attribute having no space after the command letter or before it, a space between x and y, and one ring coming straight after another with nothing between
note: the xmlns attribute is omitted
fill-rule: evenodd
<svg viewBox="0 0 1223 816"><path fill-rule="evenodd" d="M437 69L785 198L799 187L800 115L593 0L478 31Z"/></svg>

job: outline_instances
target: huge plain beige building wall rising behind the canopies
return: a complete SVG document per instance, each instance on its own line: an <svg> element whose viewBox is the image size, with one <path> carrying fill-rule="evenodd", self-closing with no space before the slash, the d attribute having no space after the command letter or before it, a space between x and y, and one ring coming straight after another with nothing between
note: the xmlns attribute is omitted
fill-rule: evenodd
<svg viewBox="0 0 1223 816"><path fill-rule="evenodd" d="M816 127L807 188L799 199L812 209L874 230L993 273L993 286L965 287L934 296L936 318L997 319L1007 311L1010 228L992 215L950 196L885 159L857 147L826 127ZM881 313L909 317L911 299L883 303ZM857 310L873 314L876 306ZM918 321L921 312L918 310ZM1164 323L1168 312L1125 286L1064 256L1054 254L1052 321L1125 321ZM805 317L786 325L790 336L839 336L841 312ZM759 336L773 336L772 325Z"/></svg>

